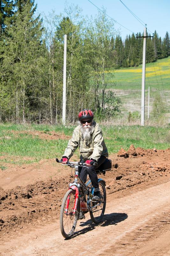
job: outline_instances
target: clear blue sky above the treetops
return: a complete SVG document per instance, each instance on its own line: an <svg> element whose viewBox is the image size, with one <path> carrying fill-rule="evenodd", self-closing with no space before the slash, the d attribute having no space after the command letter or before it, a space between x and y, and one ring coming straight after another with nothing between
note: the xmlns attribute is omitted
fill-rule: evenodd
<svg viewBox="0 0 170 256"><path fill-rule="evenodd" d="M143 32L144 26L137 21L134 16L125 8L120 0L90 0L93 4L100 9L104 6L107 9L106 13L111 16L118 23L133 31ZM155 29L159 37L165 37L166 31L170 35L170 0L122 0L122 2L144 23L147 24L147 29L154 32ZM64 13L65 1L62 0L35 0L37 3L37 13L48 13L51 10L55 10L56 14ZM82 9L83 15L97 14L97 8L92 5L88 0L67 0L67 4L78 5ZM127 29L124 29L117 23L115 23L115 29L120 29L122 39L124 40L126 35L131 35ZM150 33L150 31L148 31Z"/></svg>

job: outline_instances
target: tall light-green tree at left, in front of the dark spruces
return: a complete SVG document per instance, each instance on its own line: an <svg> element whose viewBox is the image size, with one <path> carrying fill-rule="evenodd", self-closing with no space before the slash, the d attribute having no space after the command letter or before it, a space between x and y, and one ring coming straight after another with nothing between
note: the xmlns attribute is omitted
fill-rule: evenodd
<svg viewBox="0 0 170 256"><path fill-rule="evenodd" d="M11 111L19 120L22 109L22 121L29 114L29 98L37 86L35 74L41 49L40 16L33 18L34 1L27 1L13 16L12 26L5 23L7 35L4 37L3 71L8 77L8 91L12 94ZM1 76L2 83L4 77ZM14 114L13 114L14 115Z"/></svg>

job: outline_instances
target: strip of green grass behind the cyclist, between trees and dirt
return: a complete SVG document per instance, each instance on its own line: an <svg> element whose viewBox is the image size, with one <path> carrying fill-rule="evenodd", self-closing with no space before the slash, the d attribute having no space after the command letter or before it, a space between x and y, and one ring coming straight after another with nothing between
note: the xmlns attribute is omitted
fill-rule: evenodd
<svg viewBox="0 0 170 256"><path fill-rule="evenodd" d="M4 163L24 164L62 157L68 140L45 140L29 134L16 136L11 130L55 130L66 135L72 135L74 126L42 126L42 125L0 125L0 166ZM166 149L170 146L169 128L141 126L102 126L103 136L109 153L117 153L120 148L127 150L131 144L145 149ZM77 150L75 156L79 156ZM1 168L2 169L2 168Z"/></svg>

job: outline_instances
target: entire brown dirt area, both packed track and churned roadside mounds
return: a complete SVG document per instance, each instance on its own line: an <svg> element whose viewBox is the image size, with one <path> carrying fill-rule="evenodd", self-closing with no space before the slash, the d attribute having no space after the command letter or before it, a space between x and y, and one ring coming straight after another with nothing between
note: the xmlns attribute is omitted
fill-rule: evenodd
<svg viewBox="0 0 170 256"><path fill-rule="evenodd" d="M71 180L64 167L58 172L49 161L44 167L40 163L1 173L0 255L170 255L170 150L137 152L128 158L112 156L113 169L102 177L107 184L103 222L92 224L86 214L70 240L64 240L58 221ZM52 170L55 175L49 178ZM29 172L33 184L26 178ZM17 186L19 174L24 186ZM6 178L11 177L10 185Z"/></svg>

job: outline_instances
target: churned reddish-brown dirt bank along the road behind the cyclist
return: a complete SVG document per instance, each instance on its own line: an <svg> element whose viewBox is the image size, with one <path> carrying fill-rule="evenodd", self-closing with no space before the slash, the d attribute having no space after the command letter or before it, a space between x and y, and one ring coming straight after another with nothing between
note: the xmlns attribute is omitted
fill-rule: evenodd
<svg viewBox="0 0 170 256"><path fill-rule="evenodd" d="M135 152L137 156L134 156ZM106 181L107 195L138 186L144 182L148 186L150 182L156 182L158 178L170 177L170 149L155 152L141 148L134 149L131 146L128 152L123 152L122 149L119 155L125 155L125 153L129 157L117 157L117 154L109 156L112 160L111 171L106 172L105 176L99 175L99 178ZM35 165L32 164L29 168L34 169ZM8 190L3 188L3 184L1 185L0 231L2 232L0 234L3 235L5 232L20 229L29 223L36 223L37 220L59 217L62 198L69 183L73 181L70 168L65 170L61 169L60 164L55 163L55 165L51 164L50 166L49 164L46 165L45 162L42 163L41 171L40 166L37 168L37 171L31 172L32 179L30 179L29 185L15 186ZM57 172L56 168L58 168ZM24 170L27 171L27 169ZM43 180L33 182L43 172L49 172L48 176L43 176ZM53 172L55 176L50 178ZM2 175L10 177L10 170L7 174L2 172ZM24 184L25 176L20 176L20 169L12 170L13 179L15 178L14 175L18 184Z"/></svg>

